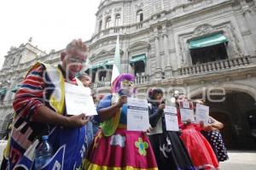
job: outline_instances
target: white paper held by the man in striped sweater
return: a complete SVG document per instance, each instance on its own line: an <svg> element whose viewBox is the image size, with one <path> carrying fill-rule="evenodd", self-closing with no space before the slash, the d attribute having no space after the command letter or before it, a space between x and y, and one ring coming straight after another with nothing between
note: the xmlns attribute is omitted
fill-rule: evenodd
<svg viewBox="0 0 256 170"><path fill-rule="evenodd" d="M96 115L96 107L90 95L90 88L84 88L65 82L65 100L67 115Z"/></svg>

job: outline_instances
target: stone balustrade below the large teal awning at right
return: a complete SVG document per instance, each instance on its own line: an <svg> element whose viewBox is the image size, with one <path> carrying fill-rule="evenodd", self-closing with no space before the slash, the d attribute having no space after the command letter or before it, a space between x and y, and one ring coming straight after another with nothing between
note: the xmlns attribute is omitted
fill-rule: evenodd
<svg viewBox="0 0 256 170"><path fill-rule="evenodd" d="M239 57L235 59L222 59L200 65L192 65L178 69L179 75L202 74L207 72L220 71L225 69L239 68L244 65L249 65L249 57Z"/></svg>

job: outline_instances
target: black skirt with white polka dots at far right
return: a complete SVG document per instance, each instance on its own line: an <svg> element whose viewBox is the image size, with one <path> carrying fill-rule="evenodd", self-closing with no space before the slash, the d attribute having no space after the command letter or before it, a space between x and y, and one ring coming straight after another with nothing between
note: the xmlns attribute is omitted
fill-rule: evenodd
<svg viewBox="0 0 256 170"><path fill-rule="evenodd" d="M229 159L221 133L219 133L217 130L213 130L211 132L201 131L201 133L212 145L212 149L215 151L218 161L226 161Z"/></svg>

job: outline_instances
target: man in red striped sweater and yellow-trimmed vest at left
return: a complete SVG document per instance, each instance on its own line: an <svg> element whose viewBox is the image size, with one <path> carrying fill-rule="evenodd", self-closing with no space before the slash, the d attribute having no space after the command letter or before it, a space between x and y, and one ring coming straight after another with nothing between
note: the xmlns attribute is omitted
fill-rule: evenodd
<svg viewBox="0 0 256 170"><path fill-rule="evenodd" d="M81 165L85 151L84 125L89 119L86 113L67 116L65 82L82 86L82 82L79 82L75 75L82 70L87 51L81 39L73 40L61 52L61 65L54 67L36 63L28 71L13 103L15 121L7 146L9 169L34 169L34 152L28 155L24 153L45 134L49 135L48 141L54 152L65 147L65 152L61 151L63 159L58 162L61 169L69 170Z"/></svg>

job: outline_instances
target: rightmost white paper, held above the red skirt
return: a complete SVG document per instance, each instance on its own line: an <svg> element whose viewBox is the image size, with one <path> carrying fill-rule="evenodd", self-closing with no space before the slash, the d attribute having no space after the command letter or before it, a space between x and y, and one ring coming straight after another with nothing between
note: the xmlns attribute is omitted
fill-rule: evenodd
<svg viewBox="0 0 256 170"><path fill-rule="evenodd" d="M204 125L208 124L209 119L209 106L196 104L195 106L195 122L204 122Z"/></svg>

